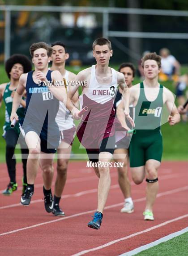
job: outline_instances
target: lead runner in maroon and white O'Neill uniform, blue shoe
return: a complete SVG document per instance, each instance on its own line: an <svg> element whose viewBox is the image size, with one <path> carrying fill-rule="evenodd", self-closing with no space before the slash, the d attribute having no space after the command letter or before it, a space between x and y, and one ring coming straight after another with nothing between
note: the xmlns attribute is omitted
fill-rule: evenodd
<svg viewBox="0 0 188 256"><path fill-rule="evenodd" d="M98 207L93 220L88 223L88 226L99 229L110 189L109 165L114 153L115 137L120 135L115 130L121 130L121 133L124 131L122 137L127 133L127 130L114 117L113 102L118 85L123 90L125 115L132 126L134 126L134 122L129 116L129 90L124 75L108 67L109 59L112 56L111 42L105 38L95 40L93 54L97 64L78 73L75 86L68 93L67 107L72 111L73 117L79 119L79 110L73 106L71 99L78 90L77 81L86 82L83 86L83 94L80 96L80 105L81 108L87 106L89 109L82 116L82 122L77 129L77 136L86 148L90 161L98 162L98 166L96 164L94 167L94 171L99 178ZM94 154L97 157L94 158Z"/></svg>

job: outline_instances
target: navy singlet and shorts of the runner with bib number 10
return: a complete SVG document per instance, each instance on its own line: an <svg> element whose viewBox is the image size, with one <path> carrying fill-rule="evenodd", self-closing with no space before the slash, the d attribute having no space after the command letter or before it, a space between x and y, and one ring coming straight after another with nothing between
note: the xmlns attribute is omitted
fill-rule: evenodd
<svg viewBox="0 0 188 256"><path fill-rule="evenodd" d="M47 72L48 81L52 81L51 72ZM60 131L55 121L59 100L53 97L47 86L38 86L34 82L33 73L34 71L31 71L27 75L26 117L22 124L22 132L26 134L35 131L41 139L41 151L55 153L55 148L60 143Z"/></svg>

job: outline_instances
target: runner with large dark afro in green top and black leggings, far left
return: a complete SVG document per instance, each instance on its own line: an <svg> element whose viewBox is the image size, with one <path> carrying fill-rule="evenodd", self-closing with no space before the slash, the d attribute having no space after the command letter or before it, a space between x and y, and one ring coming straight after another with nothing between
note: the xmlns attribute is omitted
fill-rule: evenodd
<svg viewBox="0 0 188 256"><path fill-rule="evenodd" d="M6 141L6 164L9 173L10 183L7 188L3 191L4 195L10 195L13 191L17 190L16 183L16 160L13 159L14 150L17 144L17 139L20 134L19 124L12 129L10 127L10 115L12 111L13 105L13 97L15 90L17 88L19 78L23 72L28 72L32 68L32 64L30 60L22 54L15 54L11 56L5 63L5 70L10 79L9 83L4 83L0 85L0 106L2 104L2 100L5 103L5 122L3 126L3 137ZM17 115L19 118L24 117L26 102L24 99L21 100L21 104L17 110ZM24 140L23 140L24 143ZM21 147L22 148L22 147ZM27 178L26 178L26 162L27 162L27 154L28 149L24 146L21 149L22 154L22 163L23 163L23 190L26 188Z"/></svg>

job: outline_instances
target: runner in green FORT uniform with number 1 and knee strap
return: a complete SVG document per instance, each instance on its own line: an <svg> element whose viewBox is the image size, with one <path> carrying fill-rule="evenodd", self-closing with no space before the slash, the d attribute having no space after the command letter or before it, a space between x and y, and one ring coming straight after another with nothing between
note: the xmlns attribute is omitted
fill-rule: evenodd
<svg viewBox="0 0 188 256"><path fill-rule="evenodd" d="M142 59L145 80L130 88L130 103L135 107L135 129L129 146L132 180L140 184L146 177L145 220L154 220L153 205L158 192L158 168L162 158L162 135L160 132L163 105L170 113L171 126L180 121L179 112L174 104L170 90L158 83L161 57L156 53L146 54ZM118 118L124 115L120 103Z"/></svg>

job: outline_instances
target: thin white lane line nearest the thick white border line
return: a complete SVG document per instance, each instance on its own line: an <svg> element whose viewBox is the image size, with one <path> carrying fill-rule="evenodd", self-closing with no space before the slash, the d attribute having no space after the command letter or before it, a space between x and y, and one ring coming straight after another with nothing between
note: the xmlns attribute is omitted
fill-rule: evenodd
<svg viewBox="0 0 188 256"><path fill-rule="evenodd" d="M160 227L162 227L162 226L164 226L164 225L167 225L167 224L169 224L169 223L171 223L171 222L174 222L174 221L177 221L177 220L184 219L184 218L186 218L186 217L188 217L188 214L183 215L183 216L179 216L179 217L177 217L177 218L175 218L175 219L172 219L172 220L167 220L167 221L162 222L161 224L156 225L156 226L153 226L153 227L151 227L151 228L149 228L149 229L145 229L145 230L142 230L142 231L140 231L140 232L131 234L131 235L129 235L129 236L126 236L126 237L123 237L123 238L119 238L119 239L113 240L113 241L111 241L111 242L109 242L109 243L105 243L105 244L100 245L100 246L98 246L98 247L94 247L94 248L91 248L91 249L88 249L88 250L84 250L84 251L81 251L81 252L77 252L76 254L73 254L72 256L81 256L81 255L84 255L85 253L88 253L88 252L94 252L94 251L103 249L103 248L108 247L108 246L110 246L110 245L112 245L112 244L119 243L119 242L124 241L124 240L126 240L126 239L128 239L128 238L132 238L132 237L135 237L135 236L137 236L137 235L140 235L140 234L143 234L143 233L146 233L146 232L150 232L151 230L158 229L158 228L160 228Z"/></svg>

